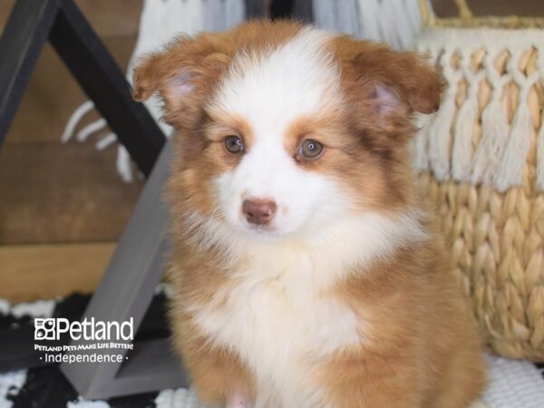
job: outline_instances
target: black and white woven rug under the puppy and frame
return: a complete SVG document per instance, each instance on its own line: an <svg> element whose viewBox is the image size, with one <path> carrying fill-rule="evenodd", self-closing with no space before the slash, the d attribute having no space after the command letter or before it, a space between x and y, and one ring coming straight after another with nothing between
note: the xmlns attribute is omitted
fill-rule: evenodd
<svg viewBox="0 0 544 408"><path fill-rule="evenodd" d="M0 299L0 331L33 325L35 317L63 316L77 320L89 296L73 295L54 301L10 306ZM145 335L169 335L164 317L164 292L155 296L142 324ZM146 322L151 322L146 324ZM141 328L142 330L142 328ZM478 407L544 407L543 366L487 355L490 384ZM22 363L20 363L22 364ZM0 408L207 408L187 389L162 390L108 401L81 398L56 364L34 364L28 369L0 373Z"/></svg>

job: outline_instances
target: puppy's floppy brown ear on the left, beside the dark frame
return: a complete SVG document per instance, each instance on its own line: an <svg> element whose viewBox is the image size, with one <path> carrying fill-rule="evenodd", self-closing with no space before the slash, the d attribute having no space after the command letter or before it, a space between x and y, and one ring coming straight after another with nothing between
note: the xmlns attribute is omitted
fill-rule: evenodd
<svg viewBox="0 0 544 408"><path fill-rule="evenodd" d="M169 121L172 112L199 102L216 83L228 67L231 48L228 38L221 34L177 38L160 53L143 57L136 66L132 97L141 102L159 92Z"/></svg>

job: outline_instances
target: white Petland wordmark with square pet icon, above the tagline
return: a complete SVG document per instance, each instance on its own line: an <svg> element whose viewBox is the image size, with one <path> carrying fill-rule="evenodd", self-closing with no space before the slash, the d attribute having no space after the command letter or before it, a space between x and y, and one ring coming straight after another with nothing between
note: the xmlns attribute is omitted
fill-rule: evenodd
<svg viewBox="0 0 544 408"><path fill-rule="evenodd" d="M122 322L95 321L94 317L83 322L70 322L65 318L35 318L34 340L60 340L62 335L68 333L72 340L133 340L134 318Z"/></svg>

